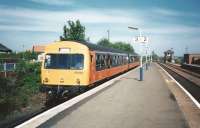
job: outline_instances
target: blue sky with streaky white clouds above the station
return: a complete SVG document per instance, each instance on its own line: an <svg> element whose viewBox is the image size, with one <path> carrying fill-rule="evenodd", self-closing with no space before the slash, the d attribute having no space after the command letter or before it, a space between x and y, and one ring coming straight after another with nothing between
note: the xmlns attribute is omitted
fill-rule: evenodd
<svg viewBox="0 0 200 128"><path fill-rule="evenodd" d="M58 41L68 20L86 27L86 37L96 43L131 43L139 28L157 54L173 48L175 56L200 53L199 0L0 0L0 43L13 51ZM24 46L24 48L23 48Z"/></svg>

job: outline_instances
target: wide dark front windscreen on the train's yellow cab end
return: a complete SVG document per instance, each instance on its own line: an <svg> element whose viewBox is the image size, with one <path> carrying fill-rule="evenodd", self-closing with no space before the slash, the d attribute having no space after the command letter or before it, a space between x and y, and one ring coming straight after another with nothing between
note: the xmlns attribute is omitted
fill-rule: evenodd
<svg viewBox="0 0 200 128"><path fill-rule="evenodd" d="M47 54L45 68L81 70L84 66L82 54Z"/></svg>

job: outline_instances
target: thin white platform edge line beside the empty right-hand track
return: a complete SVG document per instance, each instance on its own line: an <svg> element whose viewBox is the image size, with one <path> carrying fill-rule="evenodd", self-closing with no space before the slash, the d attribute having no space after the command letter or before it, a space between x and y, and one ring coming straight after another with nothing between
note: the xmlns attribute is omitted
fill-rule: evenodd
<svg viewBox="0 0 200 128"><path fill-rule="evenodd" d="M156 63L157 64L157 63ZM157 64L158 65L158 64ZM163 69L160 65L158 65L187 95L188 97L194 102L194 104L200 109L199 102L184 88L182 85L174 79L165 69Z"/></svg>

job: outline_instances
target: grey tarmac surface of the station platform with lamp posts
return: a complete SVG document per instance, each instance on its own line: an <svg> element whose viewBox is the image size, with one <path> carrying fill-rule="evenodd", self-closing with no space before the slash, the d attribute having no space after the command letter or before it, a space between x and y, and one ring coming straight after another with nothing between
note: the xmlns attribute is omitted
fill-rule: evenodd
<svg viewBox="0 0 200 128"><path fill-rule="evenodd" d="M188 128L156 64L133 69L113 85L56 115L41 128Z"/></svg>

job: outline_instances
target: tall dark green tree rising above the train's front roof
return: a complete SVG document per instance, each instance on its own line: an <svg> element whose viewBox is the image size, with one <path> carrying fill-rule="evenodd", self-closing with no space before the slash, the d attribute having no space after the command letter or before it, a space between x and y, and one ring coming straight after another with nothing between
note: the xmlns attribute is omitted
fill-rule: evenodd
<svg viewBox="0 0 200 128"><path fill-rule="evenodd" d="M69 20L68 26L63 27L63 36L60 36L61 41L77 40L85 41L85 27L81 25L80 21L76 22Z"/></svg>

